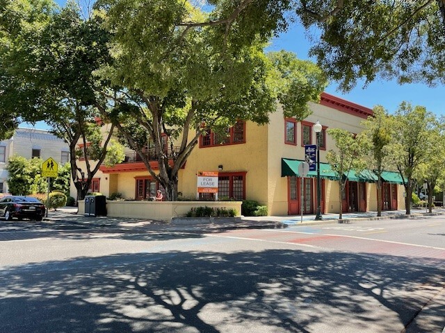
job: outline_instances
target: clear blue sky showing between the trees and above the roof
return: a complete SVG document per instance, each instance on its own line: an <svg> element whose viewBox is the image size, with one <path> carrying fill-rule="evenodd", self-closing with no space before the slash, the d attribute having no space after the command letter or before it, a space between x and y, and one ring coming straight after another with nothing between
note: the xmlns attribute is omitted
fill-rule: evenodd
<svg viewBox="0 0 445 333"><path fill-rule="evenodd" d="M63 5L65 0L56 2ZM300 24L295 23L289 27L286 33L274 38L267 50L280 51L284 49L296 53L300 59L309 59L315 62L315 59L308 56L309 47L309 40L305 37L304 29ZM363 86L363 82L359 82L354 89L345 94L337 90L337 83L331 81L325 92L367 108L382 105L389 113L394 113L402 101L408 101L412 105L424 106L426 110L437 115L445 115L444 85L437 87L428 87L421 83L399 85L394 80L375 80L366 87ZM35 128L48 129L43 122L37 123Z"/></svg>

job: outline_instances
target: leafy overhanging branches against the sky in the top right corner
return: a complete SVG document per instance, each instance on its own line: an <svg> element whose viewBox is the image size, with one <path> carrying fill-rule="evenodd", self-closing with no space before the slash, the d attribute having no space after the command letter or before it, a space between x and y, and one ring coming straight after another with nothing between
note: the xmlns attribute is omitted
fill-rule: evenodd
<svg viewBox="0 0 445 333"><path fill-rule="evenodd" d="M207 19L179 26L220 25L224 37L243 31L240 39L277 35L294 22L308 33L315 27L310 54L343 90L378 76L399 83L445 83L443 0L204 1L209 5Z"/></svg>

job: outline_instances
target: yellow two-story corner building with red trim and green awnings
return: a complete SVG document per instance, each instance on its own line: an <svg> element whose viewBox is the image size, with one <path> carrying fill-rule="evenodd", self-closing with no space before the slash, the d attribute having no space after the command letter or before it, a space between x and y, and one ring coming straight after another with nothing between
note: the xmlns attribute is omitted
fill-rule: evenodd
<svg viewBox="0 0 445 333"><path fill-rule="evenodd" d="M197 173L218 171L219 198L257 200L268 206L271 215L300 214L301 206L304 214L313 214L316 210L316 173L311 172L302 179L298 175L298 164L304 160L305 144L316 143L313 126L319 121L323 126L320 144L322 212L377 210L375 175L351 173L343 198L339 198L337 178L325 163L327 151L335 149L326 133L327 128L360 133L362 121L372 114L372 110L325 93L321 95L321 102L311 103L310 108L313 113L305 121L284 118L278 107L264 126L238 121L230 128L229 136L222 140L213 133L202 136L184 169L179 171L179 192L184 197L194 198ZM121 164L100 168L94 179L95 191L106 196L119 192L136 200L153 196L161 187L135 153L128 151L127 154ZM384 199L380 205L385 210L403 209L400 176L387 172L385 180ZM301 187L303 205L300 202Z"/></svg>

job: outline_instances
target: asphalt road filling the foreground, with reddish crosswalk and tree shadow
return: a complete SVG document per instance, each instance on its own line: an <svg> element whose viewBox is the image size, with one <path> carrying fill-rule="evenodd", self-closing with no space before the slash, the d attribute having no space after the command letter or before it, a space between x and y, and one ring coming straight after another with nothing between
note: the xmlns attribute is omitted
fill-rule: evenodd
<svg viewBox="0 0 445 333"><path fill-rule="evenodd" d="M445 325L441 216L207 233L1 230L0 332Z"/></svg>

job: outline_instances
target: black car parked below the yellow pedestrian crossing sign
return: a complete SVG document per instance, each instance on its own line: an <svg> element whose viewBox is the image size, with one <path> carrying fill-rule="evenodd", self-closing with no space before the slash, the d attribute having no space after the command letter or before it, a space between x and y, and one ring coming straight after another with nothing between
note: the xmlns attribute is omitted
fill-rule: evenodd
<svg viewBox="0 0 445 333"><path fill-rule="evenodd" d="M42 221L44 213L44 205L31 196L5 196L0 199L0 216L6 221L13 217Z"/></svg>

